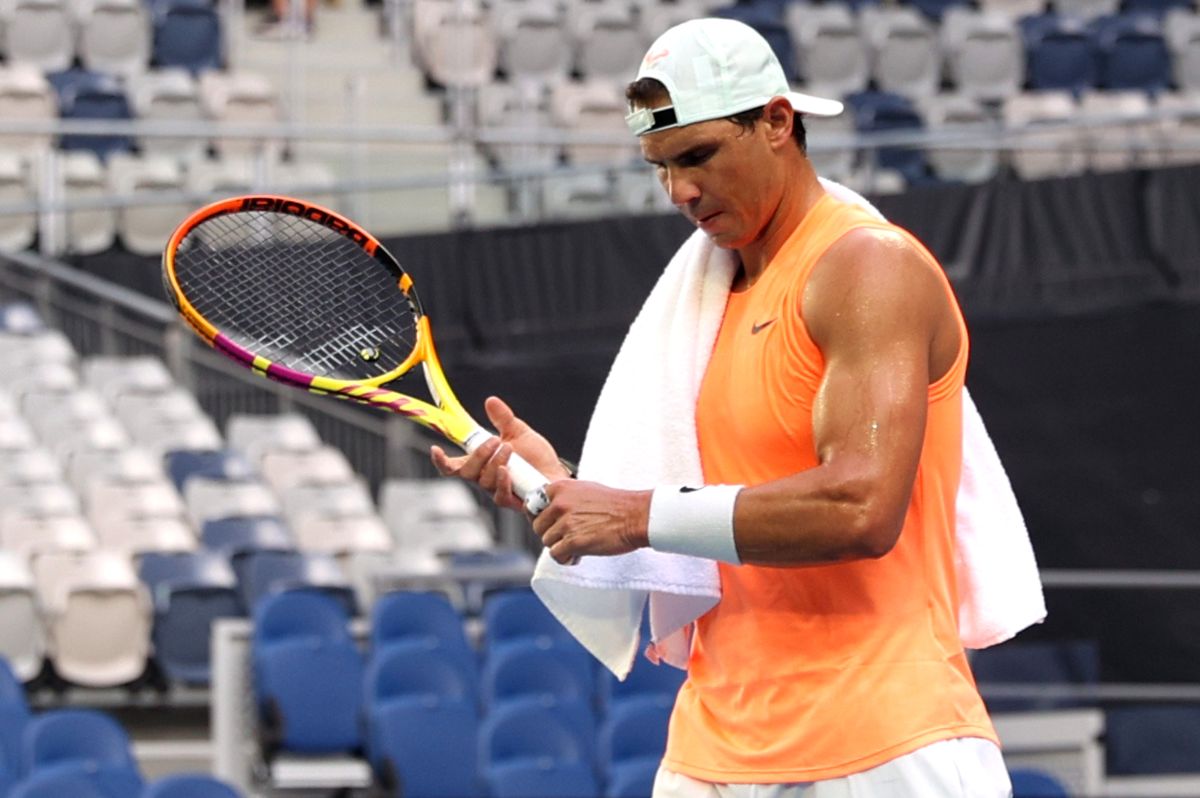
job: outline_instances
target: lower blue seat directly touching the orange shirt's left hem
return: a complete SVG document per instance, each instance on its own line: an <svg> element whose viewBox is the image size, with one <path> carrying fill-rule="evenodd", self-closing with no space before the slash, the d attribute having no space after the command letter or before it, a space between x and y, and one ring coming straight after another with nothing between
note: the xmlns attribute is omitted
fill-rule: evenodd
<svg viewBox="0 0 1200 798"><path fill-rule="evenodd" d="M648 696L610 708L598 736L596 756L605 784L644 782L649 773L653 785L654 770L667 746L671 707L671 702Z"/></svg>

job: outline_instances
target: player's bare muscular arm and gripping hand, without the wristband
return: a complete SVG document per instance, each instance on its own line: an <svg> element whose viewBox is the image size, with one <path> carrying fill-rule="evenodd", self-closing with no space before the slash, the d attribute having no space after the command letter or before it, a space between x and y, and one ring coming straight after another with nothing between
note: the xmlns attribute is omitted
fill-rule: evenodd
<svg viewBox="0 0 1200 798"><path fill-rule="evenodd" d="M761 565L881 557L904 524L928 388L954 360L958 326L920 254L872 230L829 250L800 310L826 360L812 413L820 464L738 496L738 556ZM647 545L649 492L558 482L551 496L534 528L559 562Z"/></svg>

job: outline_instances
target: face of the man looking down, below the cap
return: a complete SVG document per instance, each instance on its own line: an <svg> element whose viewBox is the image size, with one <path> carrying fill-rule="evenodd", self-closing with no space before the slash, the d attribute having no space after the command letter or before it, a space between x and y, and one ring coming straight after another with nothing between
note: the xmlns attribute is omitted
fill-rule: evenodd
<svg viewBox="0 0 1200 798"><path fill-rule="evenodd" d="M648 133L641 145L671 202L716 246L754 241L779 204L761 122L752 130L727 119L696 122Z"/></svg>

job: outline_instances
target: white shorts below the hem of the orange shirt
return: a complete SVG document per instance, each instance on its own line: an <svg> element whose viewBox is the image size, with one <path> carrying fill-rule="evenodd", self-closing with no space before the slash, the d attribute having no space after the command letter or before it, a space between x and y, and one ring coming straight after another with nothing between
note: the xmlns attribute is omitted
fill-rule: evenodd
<svg viewBox="0 0 1200 798"><path fill-rule="evenodd" d="M991 740L941 740L878 767L826 781L713 784L659 767L653 798L1010 798L1013 785Z"/></svg>

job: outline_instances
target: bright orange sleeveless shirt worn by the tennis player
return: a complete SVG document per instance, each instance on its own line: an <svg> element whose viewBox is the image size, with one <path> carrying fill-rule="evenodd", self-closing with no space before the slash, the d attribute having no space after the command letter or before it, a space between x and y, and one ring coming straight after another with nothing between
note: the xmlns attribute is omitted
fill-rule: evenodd
<svg viewBox="0 0 1200 798"><path fill-rule="evenodd" d="M818 464L812 400L824 366L800 299L821 256L860 227L913 241L953 299L916 239L824 197L762 277L730 295L696 408L706 482L757 485ZM895 547L836 565L720 564L721 600L696 623L671 718L671 770L714 782L818 781L942 739L997 740L956 620L961 314L959 325L958 358L929 386L924 448Z"/></svg>

